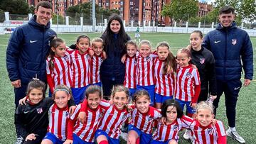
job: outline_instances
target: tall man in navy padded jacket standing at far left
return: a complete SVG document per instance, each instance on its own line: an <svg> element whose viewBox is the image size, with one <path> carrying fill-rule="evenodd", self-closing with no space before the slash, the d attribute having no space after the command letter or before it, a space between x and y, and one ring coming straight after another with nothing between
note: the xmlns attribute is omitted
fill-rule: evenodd
<svg viewBox="0 0 256 144"><path fill-rule="evenodd" d="M6 67L14 86L15 104L26 96L26 87L33 77L46 82L46 56L50 38L56 33L50 29L52 5L41 1L28 24L19 26L12 33L6 50Z"/></svg>

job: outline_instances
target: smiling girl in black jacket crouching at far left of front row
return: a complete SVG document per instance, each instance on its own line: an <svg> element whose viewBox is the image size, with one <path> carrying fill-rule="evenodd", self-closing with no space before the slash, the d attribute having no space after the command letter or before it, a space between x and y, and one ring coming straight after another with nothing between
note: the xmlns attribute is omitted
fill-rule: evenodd
<svg viewBox="0 0 256 144"><path fill-rule="evenodd" d="M15 112L17 143L41 143L48 126L48 110L53 105L53 99L46 97L46 84L40 80L28 83L27 94ZM69 101L70 106L74 105Z"/></svg>

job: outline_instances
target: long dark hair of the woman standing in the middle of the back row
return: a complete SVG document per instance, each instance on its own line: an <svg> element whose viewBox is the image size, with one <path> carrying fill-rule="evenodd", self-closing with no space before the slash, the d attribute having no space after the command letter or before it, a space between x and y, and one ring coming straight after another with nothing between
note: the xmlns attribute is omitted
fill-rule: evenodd
<svg viewBox="0 0 256 144"><path fill-rule="evenodd" d="M117 33L117 36L118 36L117 48L120 48L120 49L122 49L121 50L122 52L125 52L126 51L125 43L127 42L129 36L127 35L127 33L125 33L124 24L122 23L122 19L117 14L113 14L110 16L110 20L107 23L107 28L102 35L102 39L105 41L104 50L108 51L108 50L106 50L107 45L111 45L111 43L114 42L114 33L110 29L110 25L111 25L112 21L114 21L114 20L118 21L120 23L120 30ZM112 48L112 47L110 47L110 48Z"/></svg>

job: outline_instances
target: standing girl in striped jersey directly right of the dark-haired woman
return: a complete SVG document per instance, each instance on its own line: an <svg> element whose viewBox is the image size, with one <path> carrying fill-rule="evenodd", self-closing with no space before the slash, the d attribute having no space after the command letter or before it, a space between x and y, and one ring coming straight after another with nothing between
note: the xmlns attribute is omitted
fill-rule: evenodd
<svg viewBox="0 0 256 144"><path fill-rule="evenodd" d="M130 99L133 98L133 94L136 90L136 73L137 73L137 45L133 40L129 40L126 44L127 55L124 60L125 65L125 77L124 77L124 87L129 89Z"/></svg>

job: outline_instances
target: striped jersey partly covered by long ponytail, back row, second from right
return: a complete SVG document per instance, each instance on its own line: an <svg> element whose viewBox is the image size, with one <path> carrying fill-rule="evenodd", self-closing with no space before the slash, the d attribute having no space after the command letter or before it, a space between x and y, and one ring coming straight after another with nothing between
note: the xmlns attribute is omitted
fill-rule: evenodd
<svg viewBox="0 0 256 144"><path fill-rule="evenodd" d="M156 79L156 94L162 96L174 96L174 73L163 74L164 60L159 60L159 57L156 57L154 60L154 77Z"/></svg>

